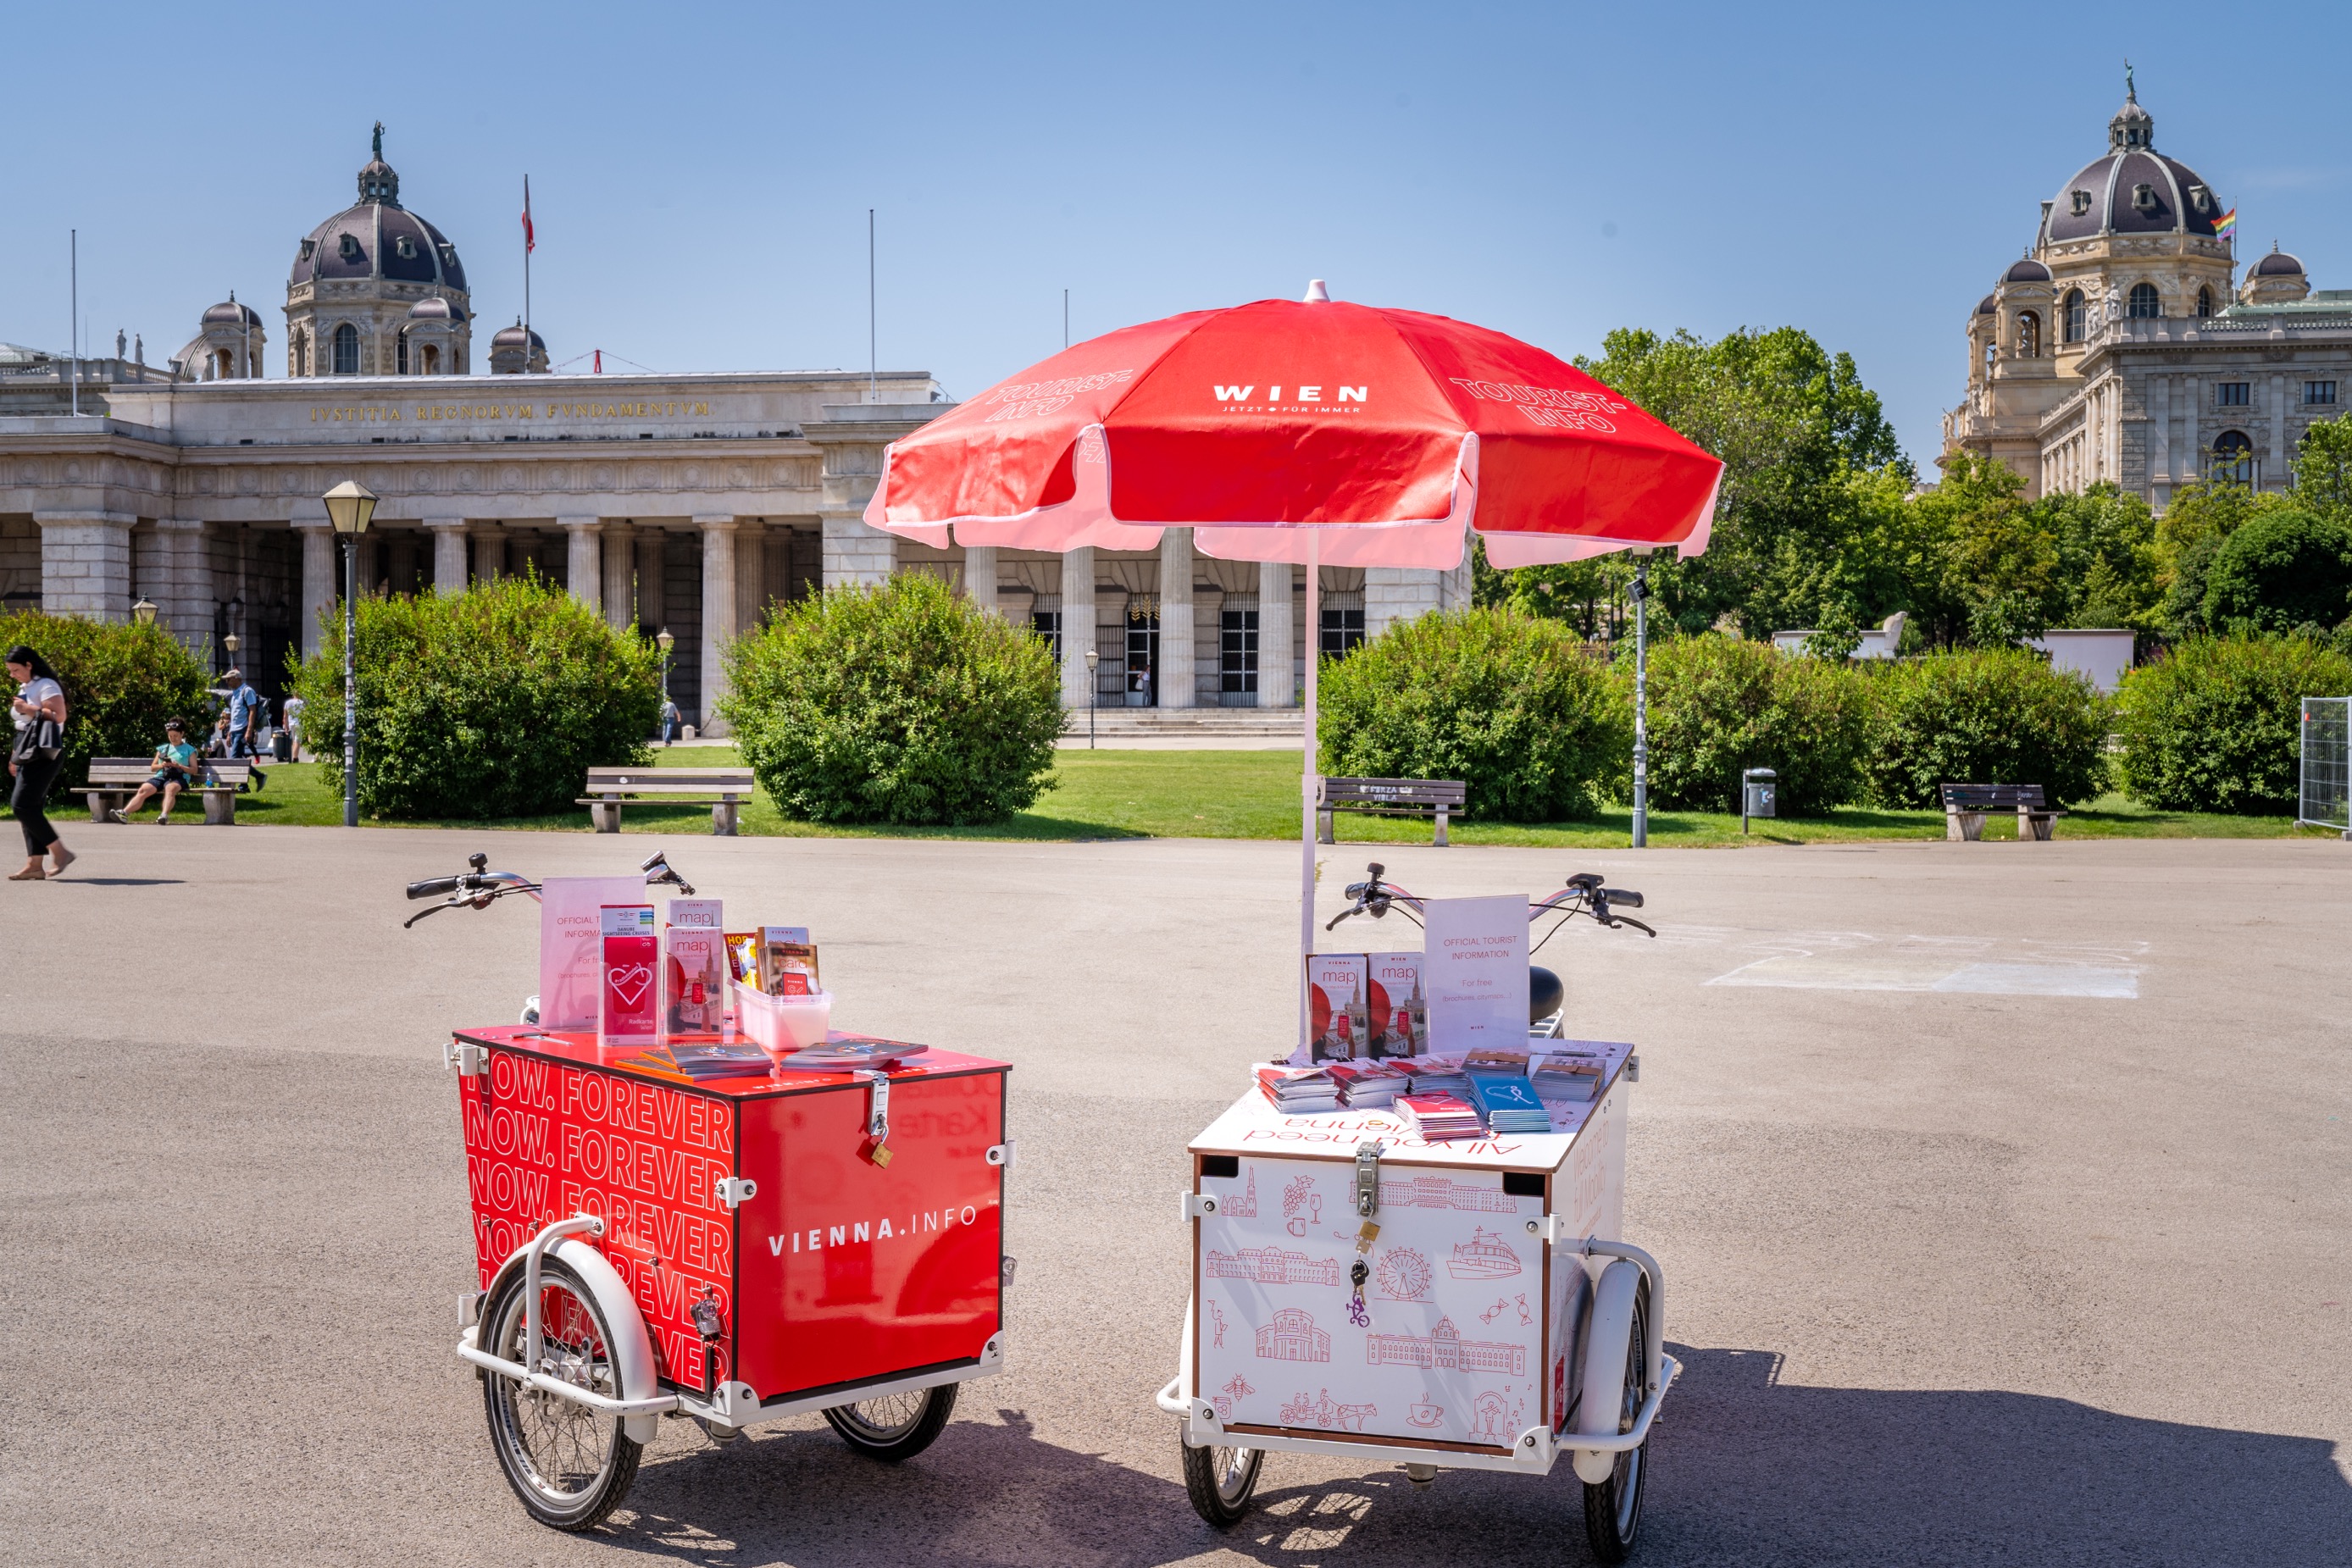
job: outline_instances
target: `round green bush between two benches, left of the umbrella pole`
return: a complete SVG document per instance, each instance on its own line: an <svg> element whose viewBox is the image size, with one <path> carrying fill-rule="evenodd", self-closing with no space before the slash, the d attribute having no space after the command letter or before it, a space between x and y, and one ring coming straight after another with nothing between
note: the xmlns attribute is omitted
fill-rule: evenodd
<svg viewBox="0 0 2352 1568"><path fill-rule="evenodd" d="M1051 788L1051 649L938 578L781 607L727 649L727 675L720 715L786 816L993 823Z"/></svg>

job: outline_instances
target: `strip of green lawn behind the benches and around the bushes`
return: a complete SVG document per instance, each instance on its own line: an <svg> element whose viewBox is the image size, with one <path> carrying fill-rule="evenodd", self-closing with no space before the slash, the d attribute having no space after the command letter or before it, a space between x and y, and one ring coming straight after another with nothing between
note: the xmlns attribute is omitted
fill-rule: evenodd
<svg viewBox="0 0 2352 1568"><path fill-rule="evenodd" d="M736 766L729 745L696 745L656 752L659 766ZM985 827L830 827L793 823L764 795L743 811L746 835L769 837L901 837L901 839L1289 839L1298 832L1298 757L1289 752L1056 752L1058 780L1035 809ZM285 825L332 825L343 820L343 802L329 795L315 764L268 769L268 790L238 802L238 820ZM183 820L202 820L183 811ZM153 816L141 816L141 823ZM708 832L708 806L628 806L628 832ZM1564 849L1623 849L1632 813L1611 806L1588 823L1522 827L1512 823L1456 823L1456 844L1534 844ZM388 825L388 823L386 823ZM532 827L588 830L586 806L557 816L492 823L416 823L423 827ZM2058 837L2098 839L2277 839L2298 830L2284 816L2206 816L2150 811L2122 795L2103 795L2074 809ZM1710 811L1653 811L1651 844L1705 849L1740 842L1740 818ZM1844 806L1825 818L1752 823L1750 844L1823 844L1853 839L1940 839L1943 811L1879 811ZM2016 818L1990 818L1987 839L2013 839ZM1428 844L1425 820L1341 816L1343 844Z"/></svg>

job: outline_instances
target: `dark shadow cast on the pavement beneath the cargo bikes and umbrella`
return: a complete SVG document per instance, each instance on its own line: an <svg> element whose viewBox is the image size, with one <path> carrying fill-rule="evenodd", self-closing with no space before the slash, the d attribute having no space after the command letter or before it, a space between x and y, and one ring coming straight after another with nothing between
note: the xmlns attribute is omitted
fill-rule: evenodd
<svg viewBox="0 0 2352 1568"><path fill-rule="evenodd" d="M2037 1394L1792 1387L1771 1352L1675 1354L1686 1371L1651 1443L1637 1563L2319 1568L2352 1540L2352 1483L2321 1439ZM1018 1410L1000 1420L955 1422L901 1467L826 1429L684 1453L649 1465L597 1537L710 1568L1157 1568L1218 1549L1268 1568L1588 1561L1566 1462L1416 1490L1395 1467L1298 1483L1331 1465L1270 1455L1256 1509L1221 1535L1185 1502L1174 1422L1167 1472L1148 1474L1047 1443Z"/></svg>

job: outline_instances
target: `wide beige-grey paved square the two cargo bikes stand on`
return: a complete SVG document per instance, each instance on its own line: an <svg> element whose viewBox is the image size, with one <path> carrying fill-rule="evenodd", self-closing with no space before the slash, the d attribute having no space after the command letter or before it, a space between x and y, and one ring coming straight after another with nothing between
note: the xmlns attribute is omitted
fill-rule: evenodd
<svg viewBox="0 0 2352 1568"><path fill-rule="evenodd" d="M1296 849L661 839L804 922L849 1027L1009 1058L1011 1359L922 1458L666 1422L593 1537L527 1523L449 1354L449 1025L534 987L529 905L402 933L468 849L654 839L78 825L12 884L0 1516L28 1563L1583 1561L1576 1488L1275 1455L1183 1500L1183 1143L1282 1044ZM1324 851L1334 889L1362 851ZM1604 870L1663 936L1545 961L1635 1039L1628 1232L1689 1363L1637 1563L2343 1563L2352 849L1390 849L1418 893ZM1392 940L1388 933L1381 943Z"/></svg>

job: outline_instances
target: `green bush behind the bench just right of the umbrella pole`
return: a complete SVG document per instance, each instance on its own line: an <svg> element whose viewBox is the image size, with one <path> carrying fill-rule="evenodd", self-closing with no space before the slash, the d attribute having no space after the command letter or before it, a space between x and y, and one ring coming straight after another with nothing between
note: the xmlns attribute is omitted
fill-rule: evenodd
<svg viewBox="0 0 2352 1568"><path fill-rule="evenodd" d="M1592 816L1632 759L1630 689L1559 621L1512 609L1430 611L1324 661L1322 771L1461 778L1468 816Z"/></svg>

